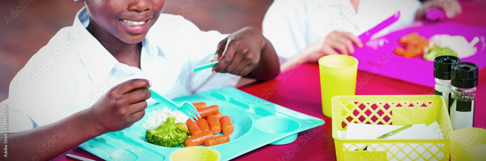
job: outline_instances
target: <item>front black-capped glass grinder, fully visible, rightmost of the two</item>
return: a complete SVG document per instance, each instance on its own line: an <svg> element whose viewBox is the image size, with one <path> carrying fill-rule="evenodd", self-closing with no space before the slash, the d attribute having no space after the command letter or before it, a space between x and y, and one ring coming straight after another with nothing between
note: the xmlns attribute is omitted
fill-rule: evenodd
<svg viewBox="0 0 486 161"><path fill-rule="evenodd" d="M478 65L458 62L451 67L451 123L452 129L471 128L474 125Z"/></svg>

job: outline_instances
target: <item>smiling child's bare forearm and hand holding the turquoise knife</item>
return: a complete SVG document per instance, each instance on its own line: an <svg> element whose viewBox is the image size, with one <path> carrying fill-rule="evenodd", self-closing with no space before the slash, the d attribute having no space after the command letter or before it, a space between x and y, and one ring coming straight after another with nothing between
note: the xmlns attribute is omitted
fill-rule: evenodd
<svg viewBox="0 0 486 161"><path fill-rule="evenodd" d="M269 80L280 72L274 47L260 30L252 27L240 29L223 39L211 61L216 60L219 62L213 67L213 73Z"/></svg>

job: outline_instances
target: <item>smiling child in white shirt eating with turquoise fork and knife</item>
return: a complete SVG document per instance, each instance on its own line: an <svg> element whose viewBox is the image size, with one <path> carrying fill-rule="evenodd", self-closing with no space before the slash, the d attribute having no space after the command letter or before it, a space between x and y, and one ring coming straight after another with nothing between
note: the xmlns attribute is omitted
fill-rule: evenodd
<svg viewBox="0 0 486 161"><path fill-rule="evenodd" d="M9 108L6 159L49 160L130 127L155 103L149 87L172 99L279 73L275 50L258 29L201 31L161 14L164 0L74 1L85 7L73 25L29 60L1 102ZM191 72L216 60L211 71Z"/></svg>

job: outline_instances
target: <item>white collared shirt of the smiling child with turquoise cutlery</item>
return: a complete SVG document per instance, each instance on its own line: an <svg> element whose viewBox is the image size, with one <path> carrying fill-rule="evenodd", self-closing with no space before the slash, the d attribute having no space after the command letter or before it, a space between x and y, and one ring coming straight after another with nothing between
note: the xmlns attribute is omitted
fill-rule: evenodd
<svg viewBox="0 0 486 161"><path fill-rule="evenodd" d="M162 14L142 41L140 69L118 62L86 29L81 9L72 27L61 30L14 77L9 98L8 131L47 125L90 107L110 88L133 78L173 99L235 86L240 76L192 70L209 63L227 35L201 31L178 15ZM148 104L154 104L152 99Z"/></svg>

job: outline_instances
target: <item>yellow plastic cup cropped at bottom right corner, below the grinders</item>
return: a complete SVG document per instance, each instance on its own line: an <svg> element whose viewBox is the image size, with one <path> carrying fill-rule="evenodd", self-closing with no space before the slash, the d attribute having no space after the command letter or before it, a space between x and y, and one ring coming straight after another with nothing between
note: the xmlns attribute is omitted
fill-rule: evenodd
<svg viewBox="0 0 486 161"><path fill-rule="evenodd" d="M465 128L453 131L451 161L486 161L486 129Z"/></svg>

